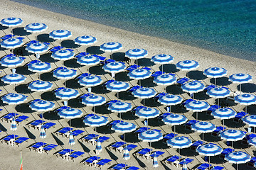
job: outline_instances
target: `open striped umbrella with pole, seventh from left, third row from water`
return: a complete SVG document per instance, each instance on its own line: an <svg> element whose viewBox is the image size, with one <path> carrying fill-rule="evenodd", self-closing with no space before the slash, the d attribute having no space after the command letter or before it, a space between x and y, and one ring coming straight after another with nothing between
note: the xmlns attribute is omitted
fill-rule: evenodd
<svg viewBox="0 0 256 170"><path fill-rule="evenodd" d="M162 105L169 106L170 112L171 112L171 106L177 105L182 103L183 99L180 96L173 95L173 94L167 94L166 96L161 96L158 99L158 102L160 102Z"/></svg>

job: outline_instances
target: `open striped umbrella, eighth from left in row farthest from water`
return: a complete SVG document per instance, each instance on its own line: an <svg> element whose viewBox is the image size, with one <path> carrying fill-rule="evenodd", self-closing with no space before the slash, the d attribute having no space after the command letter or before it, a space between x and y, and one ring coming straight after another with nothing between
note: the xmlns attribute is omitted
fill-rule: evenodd
<svg viewBox="0 0 256 170"><path fill-rule="evenodd" d="M196 152L203 156L215 156L221 154L221 152L223 152L223 149L218 145L206 144L197 147Z"/></svg>

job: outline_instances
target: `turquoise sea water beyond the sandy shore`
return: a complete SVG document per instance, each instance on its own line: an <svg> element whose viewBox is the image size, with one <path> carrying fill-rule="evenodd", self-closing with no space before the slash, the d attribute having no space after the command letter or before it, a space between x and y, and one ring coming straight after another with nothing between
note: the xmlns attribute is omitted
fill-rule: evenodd
<svg viewBox="0 0 256 170"><path fill-rule="evenodd" d="M256 61L255 0L15 0Z"/></svg>

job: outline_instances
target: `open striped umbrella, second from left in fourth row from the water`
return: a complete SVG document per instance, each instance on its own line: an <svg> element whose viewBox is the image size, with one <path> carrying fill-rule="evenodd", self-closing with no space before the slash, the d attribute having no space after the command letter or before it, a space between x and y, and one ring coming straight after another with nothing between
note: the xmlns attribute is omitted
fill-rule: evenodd
<svg viewBox="0 0 256 170"><path fill-rule="evenodd" d="M28 89L30 89L31 91L48 91L52 89L52 87L53 87L52 83L48 81L40 81L40 80L32 81L28 85Z"/></svg>

